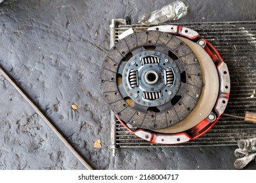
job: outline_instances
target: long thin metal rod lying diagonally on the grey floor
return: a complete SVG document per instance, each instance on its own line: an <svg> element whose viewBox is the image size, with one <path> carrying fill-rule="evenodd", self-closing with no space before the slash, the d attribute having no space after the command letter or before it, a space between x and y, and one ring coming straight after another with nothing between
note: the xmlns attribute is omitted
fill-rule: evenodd
<svg viewBox="0 0 256 183"><path fill-rule="evenodd" d="M75 158L77 158L85 168L89 170L93 170L93 167L91 167L91 165L89 165L89 163L87 163L87 161L85 161L85 159L82 158L82 156L79 154L79 152L77 152L77 150L75 150L72 144L70 144L70 142L62 135L62 133L60 133L60 131L47 119L47 117L43 114L43 112L41 112L41 110L39 110L39 108L36 107L36 105L32 102L32 100L15 84L15 82L9 77L9 75L7 75L7 73L3 70L1 66L0 66L0 73L5 77L6 80L10 82L10 84L15 88L15 90L17 90L17 92L20 93L20 95L22 95L25 101L27 101L30 104L30 106L35 110L35 112L37 112L37 114L41 116L43 121L47 125L49 125L51 130L54 131L54 133L58 136L58 138L74 154Z"/></svg>

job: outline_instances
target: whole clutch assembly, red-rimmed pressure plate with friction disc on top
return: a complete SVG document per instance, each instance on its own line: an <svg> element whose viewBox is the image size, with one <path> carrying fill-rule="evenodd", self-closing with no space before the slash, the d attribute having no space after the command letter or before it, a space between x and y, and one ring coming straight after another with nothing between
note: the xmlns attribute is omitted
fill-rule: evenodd
<svg viewBox="0 0 256 183"><path fill-rule="evenodd" d="M125 31L104 59L102 92L117 119L146 141L187 142L221 117L228 68L196 31L160 25Z"/></svg>

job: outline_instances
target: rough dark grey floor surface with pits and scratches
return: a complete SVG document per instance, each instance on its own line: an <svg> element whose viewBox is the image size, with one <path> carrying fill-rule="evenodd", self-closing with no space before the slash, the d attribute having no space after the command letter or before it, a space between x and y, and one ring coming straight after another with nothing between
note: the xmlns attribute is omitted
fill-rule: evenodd
<svg viewBox="0 0 256 183"><path fill-rule="evenodd" d="M117 150L110 108L100 93L109 22L170 1L5 0L0 4L0 65L95 169L234 169L236 146ZM183 1L178 22L255 20L256 1ZM246 3L245 3L246 2ZM0 169L84 169L53 131L0 76ZM72 104L79 108L74 111ZM94 142L102 141L102 148ZM256 169L251 163L246 169Z"/></svg>

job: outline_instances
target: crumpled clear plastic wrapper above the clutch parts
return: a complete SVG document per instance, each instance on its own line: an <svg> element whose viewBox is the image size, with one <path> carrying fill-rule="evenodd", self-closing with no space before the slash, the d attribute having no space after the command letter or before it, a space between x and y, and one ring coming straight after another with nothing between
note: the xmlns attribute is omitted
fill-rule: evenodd
<svg viewBox="0 0 256 183"><path fill-rule="evenodd" d="M139 17L139 24L156 25L169 20L178 20L186 15L188 6L181 1L175 1L161 8L148 12Z"/></svg>

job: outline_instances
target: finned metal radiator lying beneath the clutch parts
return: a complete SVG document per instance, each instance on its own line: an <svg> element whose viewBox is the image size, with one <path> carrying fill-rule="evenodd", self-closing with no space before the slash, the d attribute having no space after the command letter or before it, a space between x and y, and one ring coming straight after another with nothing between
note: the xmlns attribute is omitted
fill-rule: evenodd
<svg viewBox="0 0 256 183"><path fill-rule="evenodd" d="M231 89L225 113L244 116L245 110L256 112L256 21L179 25L194 29L211 42L228 65ZM117 42L119 35L131 27L135 32L148 28L146 25L117 25L110 41ZM144 141L127 131L118 121L112 125L112 131L115 133L112 135L116 136L114 146L120 148L170 146ZM222 116L202 137L171 146L230 146L236 145L240 139L251 137L256 137L255 124Z"/></svg>

